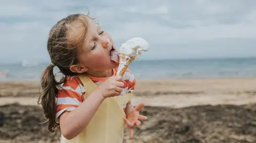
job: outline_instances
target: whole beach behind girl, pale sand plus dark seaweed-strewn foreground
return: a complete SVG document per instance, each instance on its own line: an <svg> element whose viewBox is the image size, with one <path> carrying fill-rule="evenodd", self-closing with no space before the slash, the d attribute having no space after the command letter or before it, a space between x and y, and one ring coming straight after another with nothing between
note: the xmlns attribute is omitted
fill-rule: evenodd
<svg viewBox="0 0 256 143"><path fill-rule="evenodd" d="M256 79L139 80L148 120L124 142L255 142ZM0 143L59 142L37 105L38 82L0 82Z"/></svg>

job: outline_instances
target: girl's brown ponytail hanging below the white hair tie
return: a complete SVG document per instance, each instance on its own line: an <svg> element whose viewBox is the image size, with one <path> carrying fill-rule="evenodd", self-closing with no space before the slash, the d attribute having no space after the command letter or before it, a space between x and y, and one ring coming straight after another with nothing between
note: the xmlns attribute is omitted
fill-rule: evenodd
<svg viewBox="0 0 256 143"><path fill-rule="evenodd" d="M58 123L56 122L55 106L58 93L57 85L59 85L59 83L55 81L53 68L54 65L50 64L44 70L41 78L42 92L38 98L38 104L42 105L44 115L49 121L48 129L50 132L54 132L58 126Z"/></svg>

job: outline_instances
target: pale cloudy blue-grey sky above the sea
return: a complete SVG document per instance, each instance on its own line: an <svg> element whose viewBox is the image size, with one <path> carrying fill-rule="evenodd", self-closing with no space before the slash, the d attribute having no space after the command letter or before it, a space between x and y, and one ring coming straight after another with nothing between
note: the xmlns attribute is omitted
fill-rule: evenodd
<svg viewBox="0 0 256 143"><path fill-rule="evenodd" d="M49 30L90 11L116 47L142 37L141 60L256 57L255 0L9 0L0 5L0 63L49 62Z"/></svg>

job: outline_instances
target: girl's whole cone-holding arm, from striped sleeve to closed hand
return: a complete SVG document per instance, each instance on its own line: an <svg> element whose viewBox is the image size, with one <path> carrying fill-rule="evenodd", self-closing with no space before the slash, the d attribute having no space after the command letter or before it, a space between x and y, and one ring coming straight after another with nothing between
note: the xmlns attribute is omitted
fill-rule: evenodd
<svg viewBox="0 0 256 143"><path fill-rule="evenodd" d="M105 98L119 96L124 82L119 76L110 77L85 100L81 99L84 90L79 90L80 85L79 81L72 78L64 90L58 93L57 115L60 114L60 129L66 139L73 139L86 128ZM70 110L72 112L63 113Z"/></svg>

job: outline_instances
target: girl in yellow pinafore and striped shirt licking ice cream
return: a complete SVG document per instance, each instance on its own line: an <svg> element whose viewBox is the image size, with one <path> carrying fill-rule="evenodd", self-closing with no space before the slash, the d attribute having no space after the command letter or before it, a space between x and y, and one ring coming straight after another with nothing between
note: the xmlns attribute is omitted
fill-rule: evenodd
<svg viewBox="0 0 256 143"><path fill-rule="evenodd" d="M147 117L139 114L143 104L131 105L132 73L115 75L118 58L110 35L89 16L72 14L51 29L47 51L51 64L43 72L38 104L49 130L60 125L61 142L120 143L126 123L132 138L134 125ZM54 66L66 75L61 82L55 81Z"/></svg>

